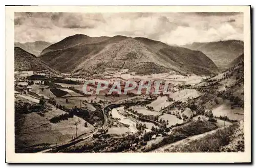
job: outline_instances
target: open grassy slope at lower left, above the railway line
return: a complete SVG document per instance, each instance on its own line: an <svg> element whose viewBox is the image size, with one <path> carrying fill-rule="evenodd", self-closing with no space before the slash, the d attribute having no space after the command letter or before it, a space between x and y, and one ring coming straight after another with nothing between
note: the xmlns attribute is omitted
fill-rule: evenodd
<svg viewBox="0 0 256 168"><path fill-rule="evenodd" d="M78 124L78 135L89 133L93 129L93 126L89 123L87 128L84 127L86 121L77 116L57 124L50 123L49 119L52 117L67 112L47 104L47 109L42 109L38 112L23 113L22 107L24 104L27 104L28 107L30 105L36 105L22 98L15 99L16 152L32 152L37 148L44 149L47 148L48 145L71 140L76 134L75 122Z"/></svg>

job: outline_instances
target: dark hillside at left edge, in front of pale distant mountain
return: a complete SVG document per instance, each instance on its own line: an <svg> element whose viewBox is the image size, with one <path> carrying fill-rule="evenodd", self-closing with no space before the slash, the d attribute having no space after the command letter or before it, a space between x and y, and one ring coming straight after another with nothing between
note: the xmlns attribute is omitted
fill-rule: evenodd
<svg viewBox="0 0 256 168"><path fill-rule="evenodd" d="M49 70L56 73L56 70L52 69L44 61L20 47L14 47L14 63L15 70Z"/></svg>

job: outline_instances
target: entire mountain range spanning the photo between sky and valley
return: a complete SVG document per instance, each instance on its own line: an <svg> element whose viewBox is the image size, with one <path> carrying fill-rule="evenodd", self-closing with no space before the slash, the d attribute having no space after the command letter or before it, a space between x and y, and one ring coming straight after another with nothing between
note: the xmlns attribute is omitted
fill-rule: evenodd
<svg viewBox="0 0 256 168"><path fill-rule="evenodd" d="M79 74L128 69L140 75L172 71L210 75L228 68L243 54L243 41L239 40L172 46L142 37L89 37L82 34L53 44L35 41L15 43L15 46L20 46L15 47L15 69L56 69L61 73Z"/></svg>

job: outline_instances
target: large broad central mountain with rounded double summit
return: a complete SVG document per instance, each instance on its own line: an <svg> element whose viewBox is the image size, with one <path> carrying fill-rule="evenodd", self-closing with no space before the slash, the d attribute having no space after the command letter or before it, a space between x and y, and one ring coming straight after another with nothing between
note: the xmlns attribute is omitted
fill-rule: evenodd
<svg viewBox="0 0 256 168"><path fill-rule="evenodd" d="M200 51L140 37L74 35L50 45L39 58L61 72L100 74L108 68L126 68L137 74L209 75L218 71Z"/></svg>

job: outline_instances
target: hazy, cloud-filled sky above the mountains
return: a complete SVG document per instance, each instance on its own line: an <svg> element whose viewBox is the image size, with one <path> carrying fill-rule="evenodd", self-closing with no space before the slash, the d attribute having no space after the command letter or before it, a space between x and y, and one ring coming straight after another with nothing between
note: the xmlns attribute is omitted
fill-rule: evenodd
<svg viewBox="0 0 256 168"><path fill-rule="evenodd" d="M57 42L74 34L146 37L168 44L243 40L243 14L15 13L15 42Z"/></svg>

